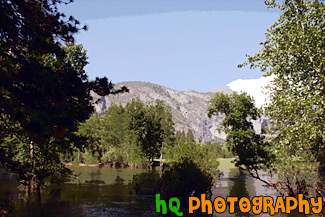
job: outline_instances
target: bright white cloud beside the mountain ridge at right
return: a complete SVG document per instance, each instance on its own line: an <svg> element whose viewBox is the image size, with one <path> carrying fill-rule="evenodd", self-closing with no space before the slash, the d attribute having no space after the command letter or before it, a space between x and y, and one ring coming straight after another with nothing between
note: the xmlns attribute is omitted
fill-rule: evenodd
<svg viewBox="0 0 325 217"><path fill-rule="evenodd" d="M265 102L269 102L265 86L270 84L273 77L261 77L257 79L237 79L230 82L227 86L236 92L246 92L254 97L255 104L260 108Z"/></svg>

